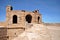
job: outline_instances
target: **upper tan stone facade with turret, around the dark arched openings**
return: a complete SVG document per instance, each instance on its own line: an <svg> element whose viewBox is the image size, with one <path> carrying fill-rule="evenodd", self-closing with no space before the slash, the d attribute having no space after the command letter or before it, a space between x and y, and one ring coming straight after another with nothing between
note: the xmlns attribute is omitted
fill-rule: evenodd
<svg viewBox="0 0 60 40"><path fill-rule="evenodd" d="M25 25L26 16L30 15L32 18L31 23L42 23L42 15L39 13L38 10L35 10L34 12L28 12L25 10L11 10L12 6L6 7L6 22L8 24L13 24L13 16L17 16L17 24L19 25ZM39 18L38 18L39 17Z"/></svg>

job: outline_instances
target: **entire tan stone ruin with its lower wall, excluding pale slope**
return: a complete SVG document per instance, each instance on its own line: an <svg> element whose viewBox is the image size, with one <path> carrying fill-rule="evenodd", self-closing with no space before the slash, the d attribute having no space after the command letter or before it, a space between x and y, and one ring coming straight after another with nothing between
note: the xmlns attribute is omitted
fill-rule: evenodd
<svg viewBox="0 0 60 40"><path fill-rule="evenodd" d="M28 12L25 10L13 10L12 6L6 6L6 21L0 22L0 40L11 40L16 37L25 30L27 23L42 23L39 10Z"/></svg>

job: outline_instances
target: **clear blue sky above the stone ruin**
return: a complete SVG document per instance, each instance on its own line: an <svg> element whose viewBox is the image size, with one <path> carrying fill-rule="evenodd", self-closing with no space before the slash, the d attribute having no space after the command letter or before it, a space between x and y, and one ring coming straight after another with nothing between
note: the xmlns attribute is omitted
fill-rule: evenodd
<svg viewBox="0 0 60 40"><path fill-rule="evenodd" d="M0 0L0 22L6 20L6 6L13 10L34 11L42 14L45 23L60 23L60 0Z"/></svg>

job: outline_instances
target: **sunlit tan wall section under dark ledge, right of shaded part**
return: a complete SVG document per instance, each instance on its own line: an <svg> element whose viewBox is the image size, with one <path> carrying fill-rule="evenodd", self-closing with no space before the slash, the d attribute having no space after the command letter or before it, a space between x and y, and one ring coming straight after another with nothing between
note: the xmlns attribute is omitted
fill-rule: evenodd
<svg viewBox="0 0 60 40"><path fill-rule="evenodd" d="M24 29L21 28L9 28L7 30L7 35L9 36L8 40L11 40L15 37L17 37L19 34L23 33Z"/></svg>

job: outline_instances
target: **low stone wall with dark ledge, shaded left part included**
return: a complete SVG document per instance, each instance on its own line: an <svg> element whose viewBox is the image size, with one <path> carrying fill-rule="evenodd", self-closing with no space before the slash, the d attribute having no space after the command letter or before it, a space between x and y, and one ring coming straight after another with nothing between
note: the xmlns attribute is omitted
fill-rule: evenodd
<svg viewBox="0 0 60 40"><path fill-rule="evenodd" d="M25 29L24 28L7 28L0 27L0 40L11 40L12 38L17 37Z"/></svg>

